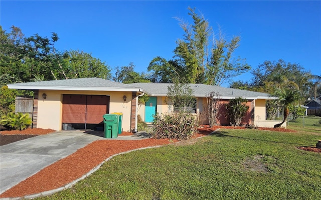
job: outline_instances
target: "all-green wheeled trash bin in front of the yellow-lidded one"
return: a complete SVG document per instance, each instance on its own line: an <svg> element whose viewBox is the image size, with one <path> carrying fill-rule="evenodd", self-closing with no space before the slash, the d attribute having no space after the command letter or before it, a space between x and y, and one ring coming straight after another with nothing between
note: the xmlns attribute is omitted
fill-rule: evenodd
<svg viewBox="0 0 321 200"><path fill-rule="evenodd" d="M104 114L104 137L115 138L118 136L118 121L117 114Z"/></svg>

